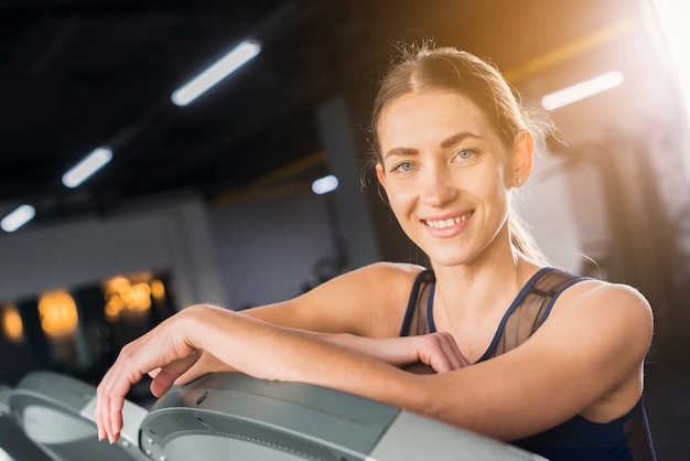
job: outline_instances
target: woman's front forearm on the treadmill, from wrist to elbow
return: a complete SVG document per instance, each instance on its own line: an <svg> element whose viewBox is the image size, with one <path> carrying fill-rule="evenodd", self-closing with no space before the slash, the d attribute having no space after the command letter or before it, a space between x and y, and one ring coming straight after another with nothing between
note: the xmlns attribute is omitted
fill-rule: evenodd
<svg viewBox="0 0 690 461"><path fill-rule="evenodd" d="M220 309L190 308L194 346L258 378L304 382L410 407L416 376L358 351L352 336L283 329ZM347 343L347 344L344 344ZM396 392L396 389L398 389Z"/></svg>

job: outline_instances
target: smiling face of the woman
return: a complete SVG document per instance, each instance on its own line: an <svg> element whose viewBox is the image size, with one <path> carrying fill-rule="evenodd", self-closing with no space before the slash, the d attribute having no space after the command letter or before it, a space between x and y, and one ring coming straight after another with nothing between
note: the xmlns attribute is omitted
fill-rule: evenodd
<svg viewBox="0 0 690 461"><path fill-rule="evenodd" d="M377 135L376 170L390 206L434 265L471 262L494 243L520 172L515 149L472 100L442 90L403 95L384 108Z"/></svg>

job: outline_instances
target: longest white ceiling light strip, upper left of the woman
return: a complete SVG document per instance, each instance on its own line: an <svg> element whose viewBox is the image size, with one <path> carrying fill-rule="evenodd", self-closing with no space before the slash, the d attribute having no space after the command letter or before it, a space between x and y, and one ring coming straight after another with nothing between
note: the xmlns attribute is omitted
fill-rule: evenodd
<svg viewBox="0 0 690 461"><path fill-rule="evenodd" d="M208 68L176 89L172 101L177 106L186 106L206 93L218 82L252 60L261 51L261 46L252 41L244 41Z"/></svg>

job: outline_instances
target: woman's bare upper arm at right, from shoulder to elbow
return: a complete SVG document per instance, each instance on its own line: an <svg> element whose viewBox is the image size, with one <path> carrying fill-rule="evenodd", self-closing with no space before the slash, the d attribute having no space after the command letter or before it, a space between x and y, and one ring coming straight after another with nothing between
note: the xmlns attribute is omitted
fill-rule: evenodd
<svg viewBox="0 0 690 461"><path fill-rule="evenodd" d="M651 309L629 287L583 282L570 290L578 294L519 347L429 376L435 396L428 395L423 414L509 441L576 415L608 422L629 411L643 389Z"/></svg>

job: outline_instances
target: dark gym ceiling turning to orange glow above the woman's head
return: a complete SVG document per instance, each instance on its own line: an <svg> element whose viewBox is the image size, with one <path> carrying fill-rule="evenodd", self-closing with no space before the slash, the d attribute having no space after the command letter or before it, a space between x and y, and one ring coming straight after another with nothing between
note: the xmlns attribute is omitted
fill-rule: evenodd
<svg viewBox="0 0 690 461"><path fill-rule="evenodd" d="M304 170L294 165L315 178L315 108L336 95L367 106L398 41L490 57L526 100L624 72L617 93L553 114L569 143L668 112L636 0L11 0L0 34L0 215L30 203L31 225L173 192L213 201ZM262 44L255 61L192 105L171 103L247 37ZM64 187L62 174L99 146L112 148L110 164Z"/></svg>

